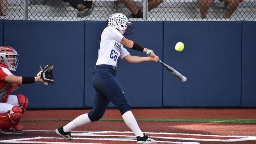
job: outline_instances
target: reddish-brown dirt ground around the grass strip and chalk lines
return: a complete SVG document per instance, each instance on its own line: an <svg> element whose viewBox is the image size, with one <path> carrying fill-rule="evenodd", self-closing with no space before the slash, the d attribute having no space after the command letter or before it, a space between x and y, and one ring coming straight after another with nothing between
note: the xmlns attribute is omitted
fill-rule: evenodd
<svg viewBox="0 0 256 144"><path fill-rule="evenodd" d="M29 110L23 119L74 119L78 115L88 113L90 110ZM133 109L136 118L256 118L256 109ZM102 119L122 118L119 111L109 109ZM66 125L69 121L41 121L21 122L25 130L54 130ZM256 136L255 124L231 124L231 123L195 123L195 122L138 122L143 132L168 132L185 134L211 134L211 135L242 135ZM74 129L74 131L130 131L123 121L98 121L89 123ZM0 140L48 136L55 137L54 132L31 132L23 135L0 134ZM175 140L174 140L175 141ZM61 141L67 142L67 141ZM78 141L73 141L78 142ZM91 141L90 141L91 142ZM243 142L205 142L200 144L255 144L256 141ZM104 143L109 143L104 142ZM123 142L111 142L114 144ZM133 142L127 142L133 143Z"/></svg>

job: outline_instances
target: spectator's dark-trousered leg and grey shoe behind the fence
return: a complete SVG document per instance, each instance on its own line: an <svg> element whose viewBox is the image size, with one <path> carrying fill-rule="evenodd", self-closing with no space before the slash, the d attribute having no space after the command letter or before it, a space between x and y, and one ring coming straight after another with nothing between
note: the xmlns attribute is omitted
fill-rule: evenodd
<svg viewBox="0 0 256 144"><path fill-rule="evenodd" d="M77 9L77 17L85 17L92 13L94 4L93 1L84 0L62 0L68 2L73 8Z"/></svg>

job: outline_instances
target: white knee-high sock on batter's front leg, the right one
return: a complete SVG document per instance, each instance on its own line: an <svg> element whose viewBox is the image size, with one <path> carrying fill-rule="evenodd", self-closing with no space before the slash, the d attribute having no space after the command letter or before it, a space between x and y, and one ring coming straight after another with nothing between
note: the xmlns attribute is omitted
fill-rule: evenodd
<svg viewBox="0 0 256 144"><path fill-rule="evenodd" d="M124 122L126 125L133 131L135 136L141 136L143 137L143 133L141 132L138 123L133 116L133 113L131 111L127 111L122 115Z"/></svg>

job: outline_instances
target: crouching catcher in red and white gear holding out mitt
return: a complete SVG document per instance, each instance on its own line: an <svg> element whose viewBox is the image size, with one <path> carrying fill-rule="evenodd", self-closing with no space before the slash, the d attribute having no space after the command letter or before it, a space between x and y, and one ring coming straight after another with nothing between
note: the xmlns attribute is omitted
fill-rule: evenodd
<svg viewBox="0 0 256 144"><path fill-rule="evenodd" d="M37 76L16 76L19 59L17 51L9 46L0 47L0 130L3 134L23 134L23 126L19 125L29 101L23 94L10 95L21 86L34 82L43 82L45 85L54 83L53 64L41 68Z"/></svg>

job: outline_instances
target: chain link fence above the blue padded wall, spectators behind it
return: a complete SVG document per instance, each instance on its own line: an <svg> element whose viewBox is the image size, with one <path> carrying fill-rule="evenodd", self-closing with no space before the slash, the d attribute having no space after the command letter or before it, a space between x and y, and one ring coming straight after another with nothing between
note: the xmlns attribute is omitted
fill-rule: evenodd
<svg viewBox="0 0 256 144"><path fill-rule="evenodd" d="M0 0L1 19L99 20L124 13L132 21L255 21L256 0Z"/></svg>

